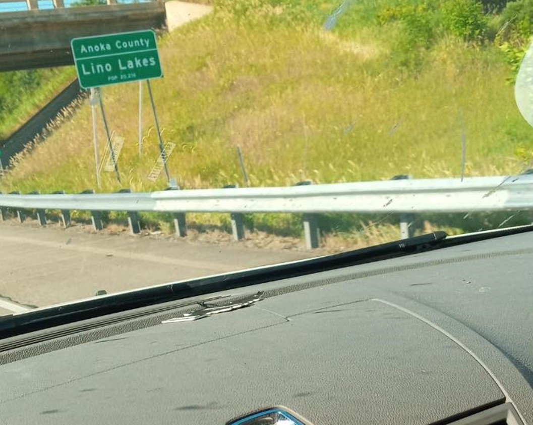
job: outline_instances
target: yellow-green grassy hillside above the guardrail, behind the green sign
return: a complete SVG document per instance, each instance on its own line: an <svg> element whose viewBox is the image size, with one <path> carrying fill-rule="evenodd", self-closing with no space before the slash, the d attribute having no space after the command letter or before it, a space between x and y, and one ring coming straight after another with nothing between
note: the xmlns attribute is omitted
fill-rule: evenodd
<svg viewBox="0 0 533 425"><path fill-rule="evenodd" d="M253 186L457 177L463 135L466 176L522 171L533 130L510 78L525 42L502 33L505 11L493 3L503 2L488 3L359 0L326 30L336 2L215 2L211 16L159 43L165 77L152 87L163 137L176 143L171 174L183 188L244 186L240 146ZM160 189L163 174L147 179L158 155L147 93L138 154L138 90L102 93L111 130L125 138L123 186ZM101 191L120 188L114 174L102 177ZM88 102L0 184L43 193L88 187Z"/></svg>

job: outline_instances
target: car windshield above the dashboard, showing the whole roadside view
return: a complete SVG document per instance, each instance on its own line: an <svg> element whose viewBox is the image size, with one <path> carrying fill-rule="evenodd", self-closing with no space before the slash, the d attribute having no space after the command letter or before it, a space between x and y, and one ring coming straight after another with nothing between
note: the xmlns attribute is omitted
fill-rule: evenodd
<svg viewBox="0 0 533 425"><path fill-rule="evenodd" d="M532 30L532 0L3 0L0 315L531 223Z"/></svg>

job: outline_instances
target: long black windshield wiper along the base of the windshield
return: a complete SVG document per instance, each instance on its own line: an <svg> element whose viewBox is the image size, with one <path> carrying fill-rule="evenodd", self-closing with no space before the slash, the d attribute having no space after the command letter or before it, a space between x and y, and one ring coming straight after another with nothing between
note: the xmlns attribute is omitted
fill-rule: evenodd
<svg viewBox="0 0 533 425"><path fill-rule="evenodd" d="M144 311L148 311L147 314L149 314L150 306L155 306L156 304L186 300L199 295L204 296L528 231L533 231L533 225L454 237L447 237L443 231L435 231L427 235L401 239L340 254L229 272L227 274L132 290L115 295L95 296L95 298L90 300L37 309L18 315L0 316L0 340L55 326L73 324L80 320L122 313L136 308L147 307L149 309ZM190 305L198 303L198 301L187 300L185 303ZM179 306L174 304L172 307Z"/></svg>

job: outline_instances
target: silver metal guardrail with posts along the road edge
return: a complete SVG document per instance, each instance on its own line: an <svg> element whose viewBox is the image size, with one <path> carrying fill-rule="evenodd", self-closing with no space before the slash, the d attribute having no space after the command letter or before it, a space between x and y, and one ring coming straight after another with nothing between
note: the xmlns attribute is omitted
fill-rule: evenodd
<svg viewBox="0 0 533 425"><path fill-rule="evenodd" d="M318 245L318 213L452 213L533 210L533 175L461 179L405 179L291 187L166 190L151 193L0 195L0 211L91 211L101 228L100 211L127 211L132 232L137 212L175 214L176 231L184 236L188 212L230 213L234 235L242 237L246 213L304 213L308 247ZM41 214L43 215L43 214ZM39 216L39 214L38 214ZM20 215L19 215L20 218ZM45 224L42 220L41 224ZM100 221L100 223L99 223ZM237 228L237 230L235 230ZM402 237L409 236L403 226Z"/></svg>

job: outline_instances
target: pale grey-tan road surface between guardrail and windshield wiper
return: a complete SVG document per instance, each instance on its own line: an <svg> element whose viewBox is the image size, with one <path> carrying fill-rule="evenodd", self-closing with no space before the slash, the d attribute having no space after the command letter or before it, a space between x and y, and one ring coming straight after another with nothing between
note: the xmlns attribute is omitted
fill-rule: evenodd
<svg viewBox="0 0 533 425"><path fill-rule="evenodd" d="M310 255L0 222L0 315Z"/></svg>

